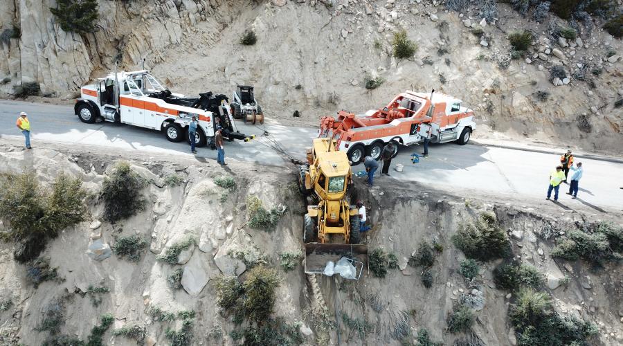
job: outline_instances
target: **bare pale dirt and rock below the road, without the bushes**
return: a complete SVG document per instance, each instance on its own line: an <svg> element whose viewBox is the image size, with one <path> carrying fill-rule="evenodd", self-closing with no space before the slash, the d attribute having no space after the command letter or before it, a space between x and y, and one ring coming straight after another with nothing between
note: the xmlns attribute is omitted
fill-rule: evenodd
<svg viewBox="0 0 623 346"><path fill-rule="evenodd" d="M465 256L452 236L464 224L487 210L508 234L514 260L531 264L543 274L539 290L548 293L554 309L564 316L575 316L599 327L593 343L616 345L623 338L620 318L623 315L619 264L590 270L582 261L569 262L550 257L552 248L570 230L596 220L584 213L565 213L545 208L530 208L514 203L498 203L478 198L462 199L449 194L424 190L417 184L401 184L393 179L378 179L378 186L368 190L356 182L356 199L368 206L372 230L363 242L370 253L383 248L397 257L399 268L390 268L385 277L366 271L358 282L280 268L279 253L303 248L303 199L296 187L296 167L255 167L232 162L226 169L213 162L198 163L192 158L159 157L141 154L106 156L71 150L35 149L21 152L4 146L0 150L2 172L34 170L42 183L50 183L61 171L78 176L92 196L98 194L102 181L120 159L129 160L132 168L150 181L142 190L145 210L129 219L110 224L102 221L98 199L89 199L89 219L64 230L46 246L42 257L57 267L62 280L43 282L35 289L27 280L27 266L12 259L12 244L2 244L0 251L0 290L12 300L12 306L0 311L0 334L8 345L40 345L48 331L37 331L50 309L61 309L60 333L83 340L98 324L102 313L112 313L113 327L104 340L114 345L132 345L134 340L113 336L111 331L124 325L145 327L146 340L168 344L168 328L178 329L181 321L163 322L151 311L195 311L192 345L232 345L231 331L238 329L232 316L219 313L215 279L224 272L237 273L242 265L266 262L277 268L282 282L277 289L273 316L300 322L303 343L332 345L399 345L414 343L422 329L431 339L451 345L455 340L471 345L509 345L516 343L512 324L507 318L515 294L496 288L492 271L503 260L480 265L471 282L459 273ZM171 176L181 179L171 183ZM216 181L233 177L236 188L225 190ZM287 206L275 230L266 232L249 226L249 195L258 197L267 210ZM89 244L101 240L114 245L119 237L138 235L147 247L138 262L111 255L93 260L86 251ZM180 253L176 264L157 260L159 255L188 237L195 245ZM408 264L418 255L422 242L435 245L431 286L422 282L422 266ZM237 253L242 252L242 257ZM225 258L225 260L223 260ZM246 262L246 263L245 263ZM168 278L177 269L193 271L191 282L172 289ZM188 269L186 269L188 268ZM242 279L248 275L245 271ZM554 289L550 283L569 277L568 283ZM207 281L206 281L207 280ZM315 282L315 283L314 283ZM89 286L107 287L109 292L93 304ZM198 288L198 293L193 289ZM474 293L474 291L479 293ZM482 309L474 309L476 322L468 333L452 334L446 330L446 318L461 295L482 295ZM97 298L96 297L96 298ZM221 330L215 338L206 331ZM620 340L619 340L620 341Z"/></svg>

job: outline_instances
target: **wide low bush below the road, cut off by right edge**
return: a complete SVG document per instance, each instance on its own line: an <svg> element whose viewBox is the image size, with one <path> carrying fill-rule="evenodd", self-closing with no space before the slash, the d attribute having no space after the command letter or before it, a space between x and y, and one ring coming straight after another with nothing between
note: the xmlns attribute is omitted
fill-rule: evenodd
<svg viewBox="0 0 623 346"><path fill-rule="evenodd" d="M558 242L552 251L552 257L575 261L581 258L595 266L602 266L604 262L620 261L623 255L621 250L621 230L597 228L594 233L581 230L572 230L568 237ZM610 239L614 246L611 246ZM618 251L617 251L618 250Z"/></svg>

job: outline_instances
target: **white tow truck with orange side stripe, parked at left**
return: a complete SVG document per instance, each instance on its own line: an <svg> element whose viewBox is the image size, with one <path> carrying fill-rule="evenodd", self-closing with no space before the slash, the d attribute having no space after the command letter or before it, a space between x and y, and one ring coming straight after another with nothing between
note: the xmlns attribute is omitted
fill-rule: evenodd
<svg viewBox="0 0 623 346"><path fill-rule="evenodd" d="M234 129L228 99L211 92L199 98L172 93L147 70L115 72L95 83L82 86L74 113L82 122L120 122L161 131L171 142L195 140L201 147L213 140L217 125L228 140L244 140ZM198 121L195 138L188 134L192 116Z"/></svg>

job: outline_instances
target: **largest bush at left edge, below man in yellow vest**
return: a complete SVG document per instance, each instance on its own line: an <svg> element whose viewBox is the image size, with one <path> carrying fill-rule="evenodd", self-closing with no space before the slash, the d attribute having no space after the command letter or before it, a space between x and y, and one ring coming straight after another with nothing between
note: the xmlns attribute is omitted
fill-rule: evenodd
<svg viewBox="0 0 623 346"><path fill-rule="evenodd" d="M27 247L16 251L18 262L33 260L43 251L48 237L56 237L60 230L84 221L86 196L82 181L64 173L55 178L49 189L39 185L34 172L2 174L0 219L8 223L9 230L0 237Z"/></svg>

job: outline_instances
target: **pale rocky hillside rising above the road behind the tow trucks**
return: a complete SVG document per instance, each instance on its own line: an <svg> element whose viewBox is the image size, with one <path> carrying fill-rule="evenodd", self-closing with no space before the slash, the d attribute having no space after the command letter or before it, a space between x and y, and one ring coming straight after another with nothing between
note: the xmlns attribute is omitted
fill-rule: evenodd
<svg viewBox="0 0 623 346"><path fill-rule="evenodd" d="M532 6L521 15L495 1L99 1L96 30L75 34L51 15L55 1L7 3L3 93L37 82L44 95L72 98L116 60L138 69L145 58L183 93L254 84L267 116L281 122L317 125L319 116L381 107L405 89L436 89L476 110L478 136L610 153L623 145L622 44L597 15L568 21ZM621 1L608 6L619 11ZM507 36L523 29L534 39L514 53ZM240 44L247 30L256 44ZM413 57L392 54L399 30L417 44ZM380 86L366 89L368 80Z"/></svg>

